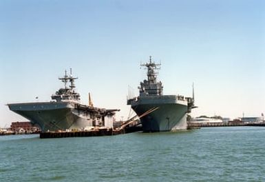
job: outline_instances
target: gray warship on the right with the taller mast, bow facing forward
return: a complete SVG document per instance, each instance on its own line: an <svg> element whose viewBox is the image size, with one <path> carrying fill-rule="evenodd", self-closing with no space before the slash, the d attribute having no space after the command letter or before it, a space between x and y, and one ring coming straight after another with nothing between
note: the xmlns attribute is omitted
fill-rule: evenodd
<svg viewBox="0 0 265 182"><path fill-rule="evenodd" d="M165 132L187 129L187 113L194 106L193 97L180 95L163 95L161 81L157 81L160 64L149 59L149 63L141 64L147 68L147 80L140 82L138 97L127 97L127 105L140 117L144 132Z"/></svg>

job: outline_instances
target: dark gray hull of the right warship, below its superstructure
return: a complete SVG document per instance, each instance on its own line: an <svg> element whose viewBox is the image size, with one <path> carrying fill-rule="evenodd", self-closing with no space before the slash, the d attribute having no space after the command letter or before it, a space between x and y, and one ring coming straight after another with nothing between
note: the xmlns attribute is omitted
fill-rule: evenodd
<svg viewBox="0 0 265 182"><path fill-rule="evenodd" d="M131 108L140 117L144 132L167 132L187 129L187 102L179 101L176 96L145 97L130 102Z"/></svg>

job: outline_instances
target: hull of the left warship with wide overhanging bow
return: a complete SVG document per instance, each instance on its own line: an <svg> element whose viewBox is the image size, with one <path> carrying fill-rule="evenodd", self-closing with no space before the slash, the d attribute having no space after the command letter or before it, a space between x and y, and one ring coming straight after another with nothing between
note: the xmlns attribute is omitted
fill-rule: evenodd
<svg viewBox="0 0 265 182"><path fill-rule="evenodd" d="M13 103L8 104L13 112L39 125L42 131L57 131L73 128L85 128L93 125L90 113L78 111L74 103Z"/></svg>

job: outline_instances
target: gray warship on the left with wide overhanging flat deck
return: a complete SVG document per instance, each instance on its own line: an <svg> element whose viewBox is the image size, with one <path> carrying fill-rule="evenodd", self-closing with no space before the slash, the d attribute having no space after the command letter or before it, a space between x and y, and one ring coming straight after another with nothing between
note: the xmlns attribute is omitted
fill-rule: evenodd
<svg viewBox="0 0 265 182"><path fill-rule="evenodd" d="M74 90L74 81L78 79L65 71L65 76L59 78L64 88L52 95L50 102L9 103L13 112L29 119L32 124L39 125L43 132L68 129L83 129L93 127L112 128L114 114L119 110L95 108L90 100L89 105L81 104L80 94Z"/></svg>

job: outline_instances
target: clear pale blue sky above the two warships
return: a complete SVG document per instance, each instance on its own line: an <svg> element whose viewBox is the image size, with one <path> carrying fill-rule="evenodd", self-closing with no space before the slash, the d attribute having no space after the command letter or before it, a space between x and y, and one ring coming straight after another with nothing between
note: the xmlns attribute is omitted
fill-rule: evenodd
<svg viewBox="0 0 265 182"><path fill-rule="evenodd" d="M120 108L138 94L140 62L161 61L165 94L191 96L193 116L265 112L265 1L0 1L0 127L25 121L6 103L49 101L65 69L81 101Z"/></svg>

